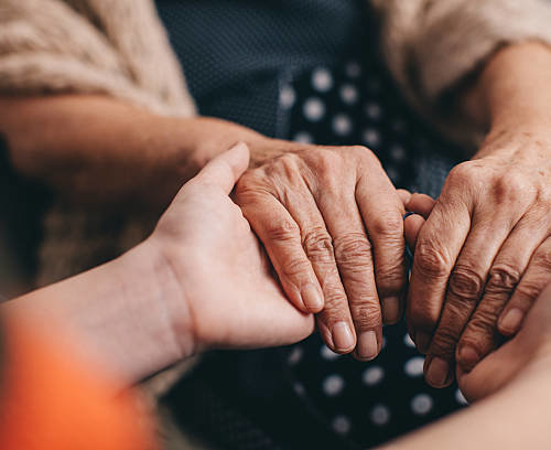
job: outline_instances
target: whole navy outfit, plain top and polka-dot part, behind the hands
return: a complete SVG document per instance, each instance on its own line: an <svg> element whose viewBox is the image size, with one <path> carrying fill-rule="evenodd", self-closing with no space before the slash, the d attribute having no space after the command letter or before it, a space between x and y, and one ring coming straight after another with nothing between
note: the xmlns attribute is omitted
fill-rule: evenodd
<svg viewBox="0 0 551 450"><path fill-rule="evenodd" d="M455 162L449 154L456 149L401 98L378 57L364 0L156 4L202 115L296 141L364 144L397 186L440 193ZM381 356L367 364L333 357L318 336L280 351L226 353L205 363L202 379L195 379L199 386L208 379L223 400L212 400L213 392L188 392L187 379L175 390L177 398L203 398L213 407L202 408L202 420L185 410L181 418L216 436L224 448L304 448L309 442L318 449L365 448L461 407L457 386L439 392L425 385L421 356L407 341L403 323L386 328L385 336ZM262 364L271 367L271 376L245 369ZM264 432L244 431L242 417L229 414L229 407L220 411L220 401Z"/></svg>

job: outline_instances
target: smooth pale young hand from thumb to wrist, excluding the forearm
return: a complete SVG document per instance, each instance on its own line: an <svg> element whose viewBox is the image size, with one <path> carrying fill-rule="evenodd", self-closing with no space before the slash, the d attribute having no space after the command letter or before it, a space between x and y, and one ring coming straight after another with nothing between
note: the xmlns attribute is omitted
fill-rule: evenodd
<svg viewBox="0 0 551 450"><path fill-rule="evenodd" d="M298 342L313 332L312 314L296 310L241 210L228 194L247 169L249 151L238 144L187 182L148 239L168 264L187 304L194 351L262 347Z"/></svg>

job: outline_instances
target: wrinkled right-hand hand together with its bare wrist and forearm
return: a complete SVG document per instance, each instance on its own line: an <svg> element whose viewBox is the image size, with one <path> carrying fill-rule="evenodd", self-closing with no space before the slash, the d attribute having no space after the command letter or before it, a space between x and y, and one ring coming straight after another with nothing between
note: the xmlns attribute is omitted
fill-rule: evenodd
<svg viewBox="0 0 551 450"><path fill-rule="evenodd" d="M454 361L469 371L515 334L551 280L550 73L547 46L506 47L466 96L489 132L450 173L409 289L409 326L433 386L452 382Z"/></svg>

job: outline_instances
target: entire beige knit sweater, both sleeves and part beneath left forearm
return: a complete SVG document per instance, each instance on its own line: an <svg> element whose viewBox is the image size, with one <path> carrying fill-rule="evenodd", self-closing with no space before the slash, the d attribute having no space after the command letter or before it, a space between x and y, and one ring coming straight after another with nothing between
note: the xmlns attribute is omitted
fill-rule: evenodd
<svg viewBox="0 0 551 450"><path fill-rule="evenodd" d="M443 115L443 94L504 43L551 43L547 0L371 3L381 18L383 54L404 95L464 142L476 142L480 130ZM161 115L195 115L152 0L0 0L0 94L56 93L99 93ZM120 254L145 236L152 221L54 205L45 219L39 282Z"/></svg>

